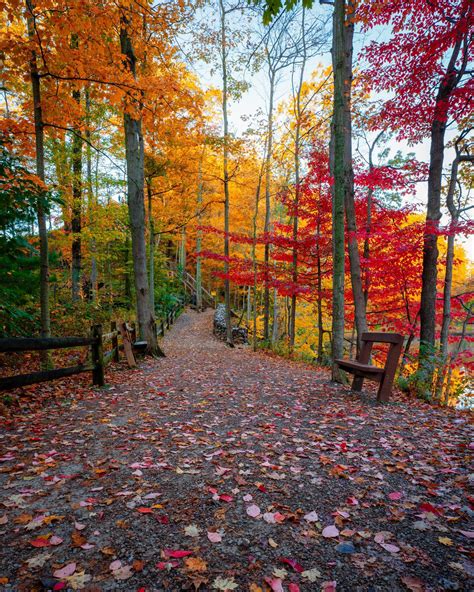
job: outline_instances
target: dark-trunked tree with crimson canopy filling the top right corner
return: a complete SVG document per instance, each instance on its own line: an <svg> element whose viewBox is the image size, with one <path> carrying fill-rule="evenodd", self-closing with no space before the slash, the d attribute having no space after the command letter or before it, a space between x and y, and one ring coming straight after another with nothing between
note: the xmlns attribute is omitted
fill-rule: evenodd
<svg viewBox="0 0 474 592"><path fill-rule="evenodd" d="M358 8L366 29L395 25L387 41L365 50L366 79L383 91L396 90L381 113L400 138L429 138L430 160L420 306L420 353L425 360L436 339L438 234L445 134L450 121L460 121L472 94L469 55L472 49L473 4L470 0L387 2L366 0ZM400 68L406 63L406 68ZM428 367L433 369L432 362Z"/></svg>

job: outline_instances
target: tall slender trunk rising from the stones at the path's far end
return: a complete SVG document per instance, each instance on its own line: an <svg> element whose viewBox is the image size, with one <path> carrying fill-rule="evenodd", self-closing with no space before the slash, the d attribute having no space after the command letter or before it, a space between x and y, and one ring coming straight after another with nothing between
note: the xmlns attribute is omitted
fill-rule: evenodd
<svg viewBox="0 0 474 592"><path fill-rule="evenodd" d="M228 73L227 73L227 40L226 40L226 22L224 0L219 0L221 13L221 58L222 58L222 115L224 124L224 154L223 154L223 173L224 173L224 292L225 292L225 325L226 325L226 343L234 347L232 336L232 321L230 309L230 279L229 279L229 214L230 214L230 194L229 194L229 121L227 113L228 102Z"/></svg>

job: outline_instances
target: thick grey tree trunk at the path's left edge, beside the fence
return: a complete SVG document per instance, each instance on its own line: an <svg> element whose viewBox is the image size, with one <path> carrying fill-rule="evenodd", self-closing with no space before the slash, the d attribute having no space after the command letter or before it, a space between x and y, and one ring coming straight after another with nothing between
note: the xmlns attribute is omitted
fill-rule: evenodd
<svg viewBox="0 0 474 592"><path fill-rule="evenodd" d="M129 22L122 15L120 23L120 46L127 57L125 65L136 79L136 56L128 31ZM133 275L137 321L140 339L147 342L147 352L164 355L156 339L153 311L150 309L150 294L147 276L145 241L145 170L141 116L132 117L124 112L125 157L127 161L127 200L132 238Z"/></svg>

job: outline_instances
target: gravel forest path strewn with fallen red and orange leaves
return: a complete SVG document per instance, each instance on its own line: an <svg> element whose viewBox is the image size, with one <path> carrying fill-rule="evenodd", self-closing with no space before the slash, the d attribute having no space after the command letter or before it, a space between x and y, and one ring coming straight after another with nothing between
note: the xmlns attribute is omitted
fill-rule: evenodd
<svg viewBox="0 0 474 592"><path fill-rule="evenodd" d="M0 589L468 590L469 416L211 329L2 433Z"/></svg>

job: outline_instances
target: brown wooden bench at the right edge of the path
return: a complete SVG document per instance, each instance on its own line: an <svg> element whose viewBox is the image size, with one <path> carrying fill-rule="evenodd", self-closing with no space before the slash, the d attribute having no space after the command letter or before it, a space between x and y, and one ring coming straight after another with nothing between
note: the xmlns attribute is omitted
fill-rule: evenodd
<svg viewBox="0 0 474 592"><path fill-rule="evenodd" d="M403 339L403 335L398 333L362 333L362 347L357 360L335 360L341 370L354 375L353 391L361 391L364 378L368 378L379 383L377 401L386 403L389 400L398 360L402 352ZM374 343L390 344L383 368L369 364Z"/></svg>

